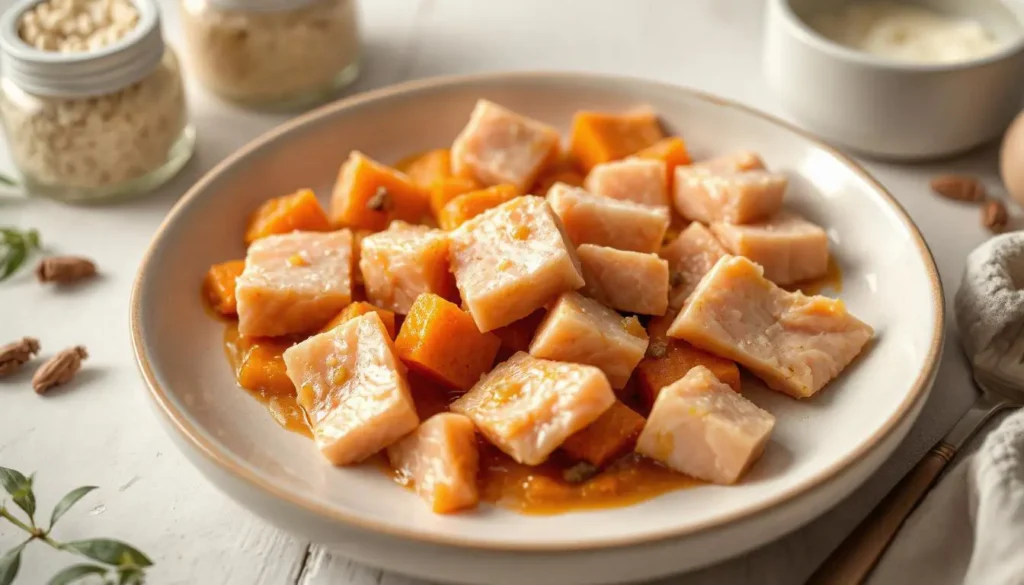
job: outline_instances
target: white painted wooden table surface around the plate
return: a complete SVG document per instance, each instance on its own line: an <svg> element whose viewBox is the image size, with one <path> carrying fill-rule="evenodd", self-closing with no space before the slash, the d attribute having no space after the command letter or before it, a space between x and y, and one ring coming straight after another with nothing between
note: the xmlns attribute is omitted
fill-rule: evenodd
<svg viewBox="0 0 1024 585"><path fill-rule="evenodd" d="M179 45L177 2L160 4L167 37ZM761 77L758 0L362 0L361 8L365 70L353 91L444 74L574 70L674 82L781 115ZM110 536L136 544L156 561L151 583L419 583L333 557L267 525L208 484L158 424L129 346L128 296L136 266L188 185L284 119L233 109L195 83L188 97L199 128L197 155L159 193L108 207L0 199L0 225L37 227L48 251L89 256L102 270L101 279L74 293L40 287L31 270L0 284L0 342L33 335L46 353L81 343L91 354L71 387L45 398L30 388L31 372L0 380L0 465L38 473L44 510L73 487L99 486L62 520L57 538ZM937 199L928 180L938 172L971 172L1001 194L995 148L939 164L866 165L921 226L951 304L965 256L987 235L976 208ZM666 582L803 582L972 402L965 361L947 328L931 400L870 482L786 538ZM0 524L0 549L19 536ZM37 543L23 558L16 583L44 583L72 561Z"/></svg>

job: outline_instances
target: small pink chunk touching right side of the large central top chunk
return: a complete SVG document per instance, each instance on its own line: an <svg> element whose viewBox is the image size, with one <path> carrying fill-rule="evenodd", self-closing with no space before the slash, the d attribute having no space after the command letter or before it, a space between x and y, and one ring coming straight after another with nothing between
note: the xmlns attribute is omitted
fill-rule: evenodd
<svg viewBox="0 0 1024 585"><path fill-rule="evenodd" d="M584 244L577 248L586 280L583 292L611 308L665 315L669 308L669 262L643 254Z"/></svg>

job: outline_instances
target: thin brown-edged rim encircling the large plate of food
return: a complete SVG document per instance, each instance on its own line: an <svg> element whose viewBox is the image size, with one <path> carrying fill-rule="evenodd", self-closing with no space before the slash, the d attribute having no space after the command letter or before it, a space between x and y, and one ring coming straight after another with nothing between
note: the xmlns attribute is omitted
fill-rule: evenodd
<svg viewBox="0 0 1024 585"><path fill-rule="evenodd" d="M612 83L612 84L624 84L624 85L634 85L634 86L647 86L650 88L657 88L665 91L677 91L689 94L690 97L701 101L708 101L716 106L729 108L732 110L737 110L743 114L754 116L755 118L760 118L770 124L778 126L783 130L793 132L800 137L808 140L816 148L828 153L840 163L849 168L854 174L865 181L871 189L873 189L882 198L891 206L892 210L897 213L900 219L903 221L904 225L907 227L908 232L912 236L913 243L916 250L924 261L926 271L928 274L928 279L931 285L932 300L935 306L935 311L933 315L934 329L932 331L931 345L926 357L926 362L921 372L913 381L913 387L910 392L904 398L904 400L897 407L896 411L890 416L884 424L872 433L867 440L863 441L855 450L847 454L844 458L831 463L823 471L814 474L813 476L793 486L791 489L785 490L783 493L777 494L767 500L760 501L756 504L752 504L743 509L735 510L729 514L725 514L713 519L709 519L697 525L687 526L683 528L667 528L664 530L652 531L643 535L636 535L630 537L617 537L617 538L602 538L599 540L579 540L573 542L565 543L545 543L545 544L529 544L529 543L494 543L494 542L477 542L468 537L455 537L455 536L441 536L431 533L426 530L413 529L408 527L396 528L392 526L382 525L375 520L370 520L366 518L360 518L357 516L350 515L342 510L338 510L317 502L313 499L303 497L300 494L294 493L285 489L282 486L278 486L274 482L261 476L260 474L254 472L253 470L247 469L240 462L233 460L232 456L226 450L221 449L216 444L208 441L197 425L193 424L188 420L187 416L181 412L173 404L173 402L168 398L167 390L160 384L155 375L153 365L150 362L150 358L146 356L144 347L144 339L142 336L141 328L141 289L142 284L147 280L147 274L153 266L153 257L156 253L158 244L160 243L164 233L167 231L168 226L177 220L177 217L183 212L184 208L191 202L191 200L198 198L200 194L205 191L209 183L214 181L218 176L220 176L225 170L230 168L236 162L246 158L253 151L278 139L281 135L284 135L291 130L317 120L322 117L326 117L337 113L341 110L346 110L349 108L354 108L359 105L364 105L370 101L374 101L381 98L386 98L389 96L404 94L404 93L415 93L421 90L434 89L442 86L459 86L467 85L479 82L501 82L504 80L557 80L561 78L577 78L580 80L589 80L593 82L600 83ZM134 283L132 284L131 297L129 300L129 328L131 333L132 351L135 357L136 366L139 373L145 382L146 387L150 390L150 396L158 407L161 414L166 417L167 421L171 423L174 431L178 432L181 437L196 451L201 453L206 459L218 467L221 471L233 475L236 479L241 479L248 484L249 487L256 489L261 495L269 496L278 500L283 500L284 502L296 506L306 512L312 513L322 518L331 519L333 521L342 523L349 525L358 529L367 530L381 535L397 537L406 540L412 540L422 543L434 544L434 545L449 545L457 546L467 549L480 549L480 550L496 550L496 551L510 551L510 552L556 552L556 551L583 551L583 550L595 550L601 548L609 547L625 547L625 546L635 546L651 542L665 541L669 539L676 539L692 535L698 532L709 531L716 528L722 528L724 526L739 521L743 518L748 518L757 515L761 512L766 511L775 506L780 506L792 502L794 499L800 497L801 495L813 491L822 485L828 483L830 479L840 475L843 471L849 469L853 466L859 459L861 459L865 454L873 451L883 440L893 432L897 426L897 423L906 416L909 412L913 410L914 404L919 400L926 398L926 394L931 389L932 383L934 382L935 373L938 370L940 357L942 353L943 342L945 338L945 295L942 289L941 280L939 278L938 266L935 262L935 258L932 254L928 243L925 241L921 234L921 229L918 227L916 223L906 212L903 206L896 200L895 197L889 191L882 185L860 163L853 160L851 157L843 154L838 149L825 143L820 138L812 135L806 130L803 130L794 124L791 124L784 120L781 120L773 115L767 114L750 106L745 106L739 101L721 97L713 93L705 92L698 89L694 89L687 86L682 86L675 83L663 82L652 79L645 79L634 76L624 76L624 75L612 75L612 74L596 74L596 73L581 73L581 72L561 72L561 71L519 71L519 72L496 72L496 73L480 73L480 74L467 74L467 75L445 75L424 78L419 80L401 82L393 85L388 85L385 87L369 90L366 92L360 92L355 95L351 95L345 98L338 99L337 101L321 106L309 112L303 113L283 124L280 124L270 130L267 130L263 134L253 138L246 144L244 144L239 150L234 151L222 161L217 163L213 168L203 174L186 192L185 194L175 203L171 210L167 213L164 220L161 222L160 226L154 233L153 239L146 246L145 252L142 255L142 259L139 263L138 271ZM179 446L180 447L180 446ZM233 497L232 497L233 499Z"/></svg>

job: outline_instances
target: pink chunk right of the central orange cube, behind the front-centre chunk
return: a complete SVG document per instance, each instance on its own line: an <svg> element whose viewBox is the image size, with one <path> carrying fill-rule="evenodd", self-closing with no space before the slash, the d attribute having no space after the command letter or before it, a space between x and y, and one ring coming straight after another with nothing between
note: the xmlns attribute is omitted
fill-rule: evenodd
<svg viewBox="0 0 1024 585"><path fill-rule="evenodd" d="M647 332L578 292L562 293L538 328L529 353L536 358L594 366L614 389L626 386L647 350Z"/></svg>

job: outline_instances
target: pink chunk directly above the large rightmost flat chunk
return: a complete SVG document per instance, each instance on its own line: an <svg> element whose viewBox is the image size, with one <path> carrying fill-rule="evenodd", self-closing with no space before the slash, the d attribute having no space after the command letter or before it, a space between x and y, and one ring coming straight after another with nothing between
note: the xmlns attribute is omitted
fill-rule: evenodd
<svg viewBox="0 0 1024 585"><path fill-rule="evenodd" d="M825 231L792 211L746 225L712 223L712 232L736 256L750 258L776 285L821 278L828 271Z"/></svg>

